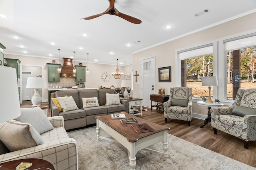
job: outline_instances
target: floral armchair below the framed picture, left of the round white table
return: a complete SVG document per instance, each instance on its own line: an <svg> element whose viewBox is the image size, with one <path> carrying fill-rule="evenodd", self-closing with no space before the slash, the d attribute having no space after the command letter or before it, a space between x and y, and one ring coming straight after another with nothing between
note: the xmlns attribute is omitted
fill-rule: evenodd
<svg viewBox="0 0 256 170"><path fill-rule="evenodd" d="M167 102L164 102L164 117L188 121L188 126L191 122L192 111L192 88L174 87L170 88L170 97Z"/></svg>

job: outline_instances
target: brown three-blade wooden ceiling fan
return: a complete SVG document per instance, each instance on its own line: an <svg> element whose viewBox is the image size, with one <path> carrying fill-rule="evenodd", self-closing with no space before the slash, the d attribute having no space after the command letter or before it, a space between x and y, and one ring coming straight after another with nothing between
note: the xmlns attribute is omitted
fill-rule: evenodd
<svg viewBox="0 0 256 170"><path fill-rule="evenodd" d="M96 15L93 15L93 16L88 16L88 17L85 17L85 18L81 18L81 20L91 20L93 18L97 18L97 17L102 16L104 14L110 14L110 15L119 16L119 17L123 18L124 20L129 21L131 23L136 23L136 24L140 24L141 23L141 20L119 12L115 8L114 5L115 5L115 0L109 0L109 7L108 7L108 9L105 12L100 13L100 14L96 14Z"/></svg>

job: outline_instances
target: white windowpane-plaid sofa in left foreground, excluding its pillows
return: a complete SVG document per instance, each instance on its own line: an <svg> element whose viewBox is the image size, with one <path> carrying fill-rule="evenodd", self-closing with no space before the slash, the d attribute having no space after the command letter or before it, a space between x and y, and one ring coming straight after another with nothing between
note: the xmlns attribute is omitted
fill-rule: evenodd
<svg viewBox="0 0 256 170"><path fill-rule="evenodd" d="M68 137L63 117L54 116L48 119L54 129L41 134L44 144L0 154L0 164L18 159L38 158L53 164L55 170L78 170L77 143L75 139ZM0 150L4 150L3 147L0 141Z"/></svg>

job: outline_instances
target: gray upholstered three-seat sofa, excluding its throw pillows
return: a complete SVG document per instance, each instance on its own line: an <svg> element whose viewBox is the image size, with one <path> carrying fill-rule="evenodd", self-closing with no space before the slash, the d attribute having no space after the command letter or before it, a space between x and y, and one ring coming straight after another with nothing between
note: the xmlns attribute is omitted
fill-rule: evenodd
<svg viewBox="0 0 256 170"><path fill-rule="evenodd" d="M128 101L120 100L121 104L106 106L106 93L115 94L113 89L86 89L86 90L62 90L51 93L51 98L72 96L78 109L66 112L59 112L57 106L51 100L51 114L52 116L64 117L65 129L74 129L85 127L96 123L95 116L119 113L125 111L128 113ZM83 107L82 98L98 98L97 107Z"/></svg>

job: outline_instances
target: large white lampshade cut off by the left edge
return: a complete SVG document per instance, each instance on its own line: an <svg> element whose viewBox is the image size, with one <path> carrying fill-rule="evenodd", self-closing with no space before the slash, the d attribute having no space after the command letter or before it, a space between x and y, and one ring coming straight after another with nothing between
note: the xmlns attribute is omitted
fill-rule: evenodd
<svg viewBox="0 0 256 170"><path fill-rule="evenodd" d="M16 69L0 66L0 123L20 116L20 98Z"/></svg>

